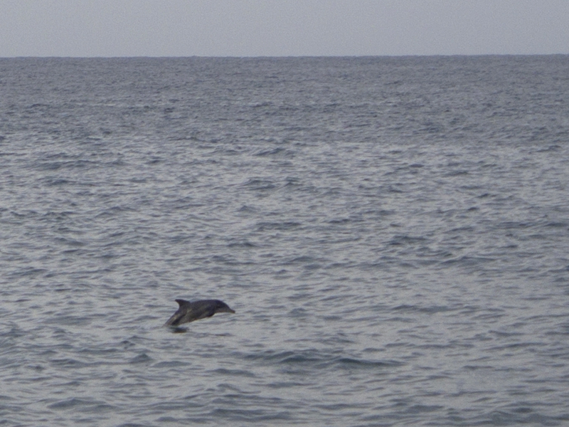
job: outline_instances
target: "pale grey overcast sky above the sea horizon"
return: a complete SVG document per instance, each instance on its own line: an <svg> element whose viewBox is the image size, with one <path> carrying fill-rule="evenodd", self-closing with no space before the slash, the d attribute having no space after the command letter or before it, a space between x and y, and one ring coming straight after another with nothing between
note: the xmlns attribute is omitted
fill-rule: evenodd
<svg viewBox="0 0 569 427"><path fill-rule="evenodd" d="M0 57L496 53L569 53L569 0L0 0Z"/></svg>

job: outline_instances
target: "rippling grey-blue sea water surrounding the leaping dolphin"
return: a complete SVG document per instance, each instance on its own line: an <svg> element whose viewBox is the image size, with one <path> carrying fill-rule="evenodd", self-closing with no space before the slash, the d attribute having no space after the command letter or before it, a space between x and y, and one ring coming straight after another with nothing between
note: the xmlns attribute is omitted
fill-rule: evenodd
<svg viewBox="0 0 569 427"><path fill-rule="evenodd" d="M0 60L0 425L568 425L568 76Z"/></svg>

